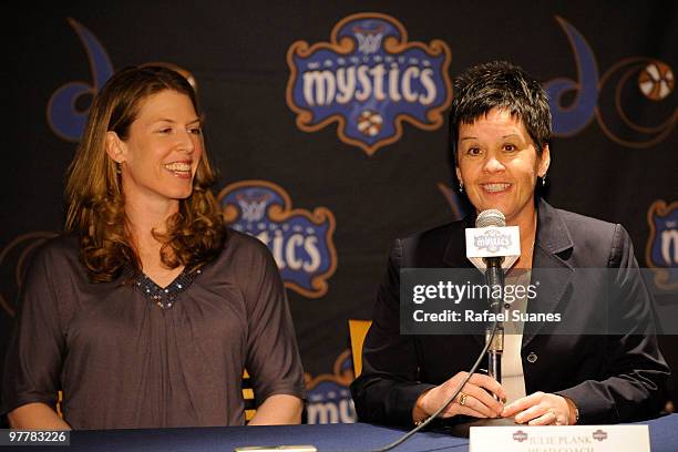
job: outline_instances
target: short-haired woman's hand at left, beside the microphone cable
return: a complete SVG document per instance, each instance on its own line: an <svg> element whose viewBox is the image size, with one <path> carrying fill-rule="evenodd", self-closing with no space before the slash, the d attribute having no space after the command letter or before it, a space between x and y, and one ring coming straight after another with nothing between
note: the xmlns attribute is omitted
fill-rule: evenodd
<svg viewBox="0 0 678 452"><path fill-rule="evenodd" d="M422 393L412 410L414 422L422 421L440 409L459 389L468 374L469 372L459 372L441 386ZM504 388L495 379L474 373L455 400L441 413L441 417L451 418L456 414L465 414L474 418L496 418L501 415L504 404L495 400L492 394L497 396L500 400L506 400Z"/></svg>

